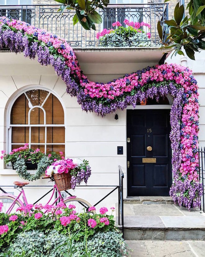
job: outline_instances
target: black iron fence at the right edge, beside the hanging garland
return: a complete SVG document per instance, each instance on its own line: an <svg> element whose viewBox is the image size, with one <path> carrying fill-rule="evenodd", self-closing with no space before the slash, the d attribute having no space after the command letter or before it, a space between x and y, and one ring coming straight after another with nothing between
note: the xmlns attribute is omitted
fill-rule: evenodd
<svg viewBox="0 0 205 257"><path fill-rule="evenodd" d="M202 182L202 190L203 190L203 195L201 199L201 207L200 210L203 210L205 212L205 147L202 148L201 150L198 149L198 157L199 157L199 178Z"/></svg>

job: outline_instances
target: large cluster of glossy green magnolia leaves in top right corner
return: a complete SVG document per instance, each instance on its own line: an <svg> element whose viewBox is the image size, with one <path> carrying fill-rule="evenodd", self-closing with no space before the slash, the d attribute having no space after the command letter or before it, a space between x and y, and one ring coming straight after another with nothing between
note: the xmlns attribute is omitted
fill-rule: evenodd
<svg viewBox="0 0 205 257"><path fill-rule="evenodd" d="M175 55L184 55L183 47L188 57L195 60L195 52L205 49L205 0L191 0L187 8L189 17L183 18L184 6L177 3L174 18L165 21L163 27L158 21L157 31L164 48L174 50Z"/></svg>

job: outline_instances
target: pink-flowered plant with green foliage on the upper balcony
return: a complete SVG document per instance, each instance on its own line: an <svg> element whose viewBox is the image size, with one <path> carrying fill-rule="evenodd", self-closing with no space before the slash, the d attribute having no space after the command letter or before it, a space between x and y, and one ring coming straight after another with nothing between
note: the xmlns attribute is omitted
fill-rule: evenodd
<svg viewBox="0 0 205 257"><path fill-rule="evenodd" d="M148 47L152 46L149 31L150 25L144 22L133 22L124 20L124 24L127 27L117 21L112 24L115 29L103 29L103 31L97 33L97 39L99 39L100 46L114 46L114 47ZM146 31L144 31L146 28ZM156 45L155 45L156 46Z"/></svg>

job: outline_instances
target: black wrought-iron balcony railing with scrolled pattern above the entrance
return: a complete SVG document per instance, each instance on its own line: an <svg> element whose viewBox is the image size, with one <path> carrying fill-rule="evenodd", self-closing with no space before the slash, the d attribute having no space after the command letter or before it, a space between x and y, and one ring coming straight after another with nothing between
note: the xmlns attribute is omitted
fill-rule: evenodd
<svg viewBox="0 0 205 257"><path fill-rule="evenodd" d="M64 38L73 48L158 46L157 22L163 24L168 19L168 4L110 4L104 11L99 11L103 21L100 25L96 24L96 31L86 31L79 23L73 26L75 12L66 10L61 15L58 9L59 5L0 5L0 16L26 21L45 29ZM103 39L96 37L103 29L113 28L112 23L116 21L127 27L125 19L149 26L141 25L137 33L128 28L126 32L122 29L118 35L110 33Z"/></svg>

